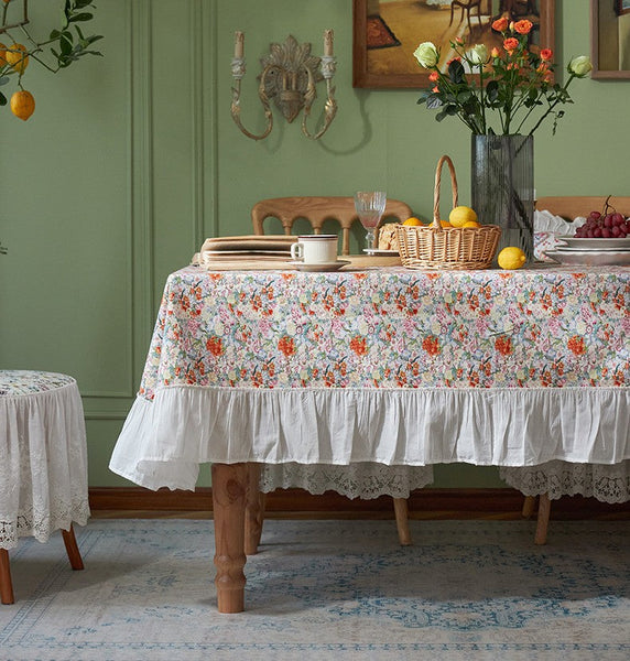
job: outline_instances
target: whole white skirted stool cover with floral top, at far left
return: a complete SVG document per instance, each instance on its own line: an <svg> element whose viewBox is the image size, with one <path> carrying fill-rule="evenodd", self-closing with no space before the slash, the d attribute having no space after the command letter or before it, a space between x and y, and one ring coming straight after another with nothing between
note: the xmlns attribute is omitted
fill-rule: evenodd
<svg viewBox="0 0 630 661"><path fill-rule="evenodd" d="M89 518L83 404L66 375L0 370L0 548Z"/></svg>

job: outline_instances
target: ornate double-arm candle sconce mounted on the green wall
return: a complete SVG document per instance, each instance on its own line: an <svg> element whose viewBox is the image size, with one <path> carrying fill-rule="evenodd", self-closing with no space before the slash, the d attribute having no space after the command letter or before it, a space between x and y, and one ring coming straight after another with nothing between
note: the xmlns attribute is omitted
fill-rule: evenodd
<svg viewBox="0 0 630 661"><path fill-rule="evenodd" d="M280 109L290 123L302 110L302 132L312 140L318 140L328 130L337 112L333 77L336 71L336 59L333 56L333 31L324 32L324 55L316 57L311 54L311 44L300 45L294 36L289 35L284 44L271 44L269 55L261 58L262 73L259 76L258 96L264 110L267 127L259 136L248 131L240 119L240 82L245 76L245 34L235 34L235 56L231 62L232 102L230 113L237 127L252 140L263 140L273 128L273 113L270 99ZM319 69L319 71L318 71ZM326 80L326 102L324 105L324 122L311 133L306 122L317 96L317 83Z"/></svg>

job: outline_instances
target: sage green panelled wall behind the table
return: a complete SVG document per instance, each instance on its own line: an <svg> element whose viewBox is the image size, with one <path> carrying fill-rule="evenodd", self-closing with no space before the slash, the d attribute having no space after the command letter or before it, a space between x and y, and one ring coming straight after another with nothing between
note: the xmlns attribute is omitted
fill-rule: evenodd
<svg viewBox="0 0 630 661"><path fill-rule="evenodd" d="M46 34L51 0L30 3ZM589 2L556 2L556 59L589 52ZM74 375L84 395L91 486L126 484L107 464L138 388L167 273L204 237L250 231L258 199L383 187L431 215L438 158L469 198L469 136L436 123L415 90L351 86L350 0L100 0L104 58L52 76L32 66L28 121L0 109L0 367ZM289 33L322 53L335 30L339 111L312 142L275 116L245 138L229 115L233 32L246 32L243 121L262 128L258 59ZM575 83L558 132L536 137L542 195L630 191L630 82ZM322 102L322 99L318 101ZM585 209L588 210L588 209ZM442 467L437 486L499 485L496 469ZM209 470L202 473L208 484Z"/></svg>

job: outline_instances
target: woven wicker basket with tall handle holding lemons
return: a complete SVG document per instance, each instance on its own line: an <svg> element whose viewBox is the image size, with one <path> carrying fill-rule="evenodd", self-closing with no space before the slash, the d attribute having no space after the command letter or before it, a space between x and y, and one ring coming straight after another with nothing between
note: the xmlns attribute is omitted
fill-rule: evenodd
<svg viewBox="0 0 630 661"><path fill-rule="evenodd" d="M433 192L433 223L424 227L397 226L402 263L410 269L488 269L492 263L501 228L498 225L481 227L442 227L439 223L439 185L442 165L450 171L453 206L457 206L457 177L453 161L444 155L437 163Z"/></svg>

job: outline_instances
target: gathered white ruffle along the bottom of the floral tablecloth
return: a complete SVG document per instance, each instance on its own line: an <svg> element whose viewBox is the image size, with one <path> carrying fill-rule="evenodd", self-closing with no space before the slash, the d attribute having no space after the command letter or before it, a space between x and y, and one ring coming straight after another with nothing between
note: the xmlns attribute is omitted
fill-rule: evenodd
<svg viewBox="0 0 630 661"><path fill-rule="evenodd" d="M110 469L194 489L200 463L465 462L535 466L630 458L630 389L230 389L137 398Z"/></svg>

